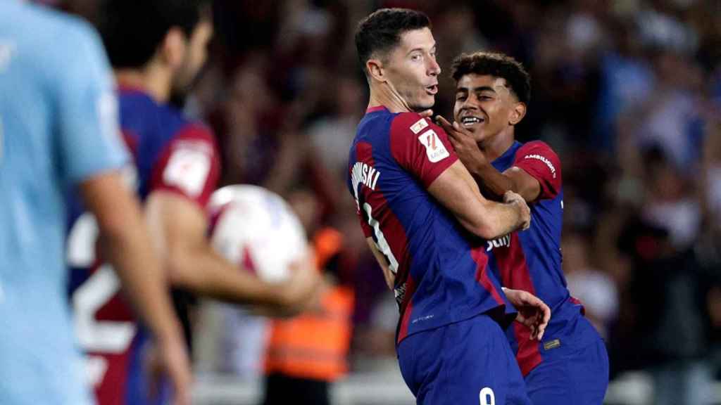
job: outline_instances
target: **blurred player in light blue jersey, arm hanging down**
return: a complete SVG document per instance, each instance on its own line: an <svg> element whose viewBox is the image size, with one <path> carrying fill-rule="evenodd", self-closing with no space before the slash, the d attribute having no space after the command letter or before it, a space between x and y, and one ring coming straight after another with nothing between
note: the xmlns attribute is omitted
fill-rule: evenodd
<svg viewBox="0 0 721 405"><path fill-rule="evenodd" d="M0 94L0 404L92 403L65 293L71 187L97 218L102 251L156 337L177 403L189 403L180 324L138 201L120 176L127 155L96 32L2 1Z"/></svg>

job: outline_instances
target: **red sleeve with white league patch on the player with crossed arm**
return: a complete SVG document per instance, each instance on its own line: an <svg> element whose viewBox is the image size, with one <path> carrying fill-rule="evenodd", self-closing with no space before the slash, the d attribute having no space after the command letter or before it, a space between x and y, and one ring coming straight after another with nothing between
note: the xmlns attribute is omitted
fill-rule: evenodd
<svg viewBox="0 0 721 405"><path fill-rule="evenodd" d="M415 112L394 117L390 138L394 159L425 187L458 160L446 131Z"/></svg>

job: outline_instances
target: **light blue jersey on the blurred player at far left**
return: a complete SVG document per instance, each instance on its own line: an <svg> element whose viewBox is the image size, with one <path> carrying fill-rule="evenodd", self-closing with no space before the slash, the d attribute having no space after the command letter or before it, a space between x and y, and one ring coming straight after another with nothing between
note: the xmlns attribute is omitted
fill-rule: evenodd
<svg viewBox="0 0 721 405"><path fill-rule="evenodd" d="M89 404L66 291L64 197L118 169L112 76L96 32L0 0L0 404Z"/></svg>

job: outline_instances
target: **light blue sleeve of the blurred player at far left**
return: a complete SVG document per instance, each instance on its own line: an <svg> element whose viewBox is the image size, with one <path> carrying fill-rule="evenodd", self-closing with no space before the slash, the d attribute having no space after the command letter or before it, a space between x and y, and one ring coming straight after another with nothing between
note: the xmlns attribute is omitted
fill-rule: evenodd
<svg viewBox="0 0 721 405"><path fill-rule="evenodd" d="M55 86L59 166L63 177L76 183L118 169L129 155L118 126L115 83L97 33L78 23L58 39Z"/></svg>

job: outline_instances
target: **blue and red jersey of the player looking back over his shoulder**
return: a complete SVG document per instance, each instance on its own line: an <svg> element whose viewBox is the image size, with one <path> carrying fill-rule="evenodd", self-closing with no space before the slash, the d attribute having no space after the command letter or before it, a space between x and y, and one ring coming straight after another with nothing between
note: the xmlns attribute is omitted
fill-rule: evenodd
<svg viewBox="0 0 721 405"><path fill-rule="evenodd" d="M368 109L350 148L348 188L363 233L395 274L397 343L480 313L504 328L516 315L487 266L486 241L426 190L457 160L442 128L385 107Z"/></svg>

